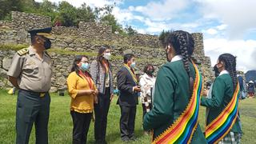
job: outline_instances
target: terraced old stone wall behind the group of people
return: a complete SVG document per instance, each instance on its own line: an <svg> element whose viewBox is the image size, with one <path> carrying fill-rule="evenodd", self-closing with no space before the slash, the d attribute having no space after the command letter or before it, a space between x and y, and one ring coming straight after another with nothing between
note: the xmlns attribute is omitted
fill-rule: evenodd
<svg viewBox="0 0 256 144"><path fill-rule="evenodd" d="M0 22L0 45L29 44L30 34L27 34L26 30L50 26L50 18L35 14L13 12L12 17L11 22ZM87 54L92 61L96 58L98 48L101 46L112 47L111 63L114 77L122 65L122 55L126 53L133 53L136 56L138 64L136 71L139 74L142 74L143 67L147 63L153 64L157 72L158 68L166 62L166 54L158 41L158 36L136 34L125 37L112 34L110 26L91 22L79 22L78 27L54 27L52 32L55 38L52 41L50 52L54 62L52 91L66 87L66 77L69 74L75 53ZM195 33L193 38L195 41L194 59L200 64L199 68L208 81L213 74L210 68L210 58L204 54L203 36ZM14 50L0 49L0 78L2 79L0 87L11 86L6 80L6 71L9 69L8 66L10 66L14 53Z"/></svg>

